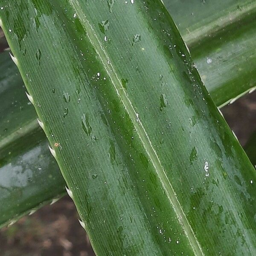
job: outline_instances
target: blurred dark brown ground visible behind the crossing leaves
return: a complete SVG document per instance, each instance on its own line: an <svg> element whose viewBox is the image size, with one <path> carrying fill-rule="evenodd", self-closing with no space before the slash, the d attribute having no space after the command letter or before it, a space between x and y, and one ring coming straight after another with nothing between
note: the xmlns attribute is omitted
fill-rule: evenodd
<svg viewBox="0 0 256 256"><path fill-rule="evenodd" d="M0 30L0 52L8 47ZM1 70L2 72L2 70ZM225 119L245 145L256 131L256 92L222 108ZM78 222L73 201L65 196L53 205L0 230L1 256L93 256L90 241Z"/></svg>

